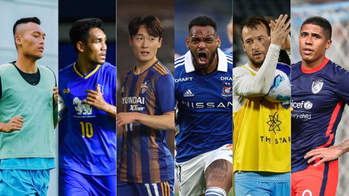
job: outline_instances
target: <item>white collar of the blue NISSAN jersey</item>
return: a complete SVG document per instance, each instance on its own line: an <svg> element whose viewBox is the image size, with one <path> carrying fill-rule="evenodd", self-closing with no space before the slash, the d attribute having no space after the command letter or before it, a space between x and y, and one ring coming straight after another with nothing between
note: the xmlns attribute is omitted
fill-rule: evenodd
<svg viewBox="0 0 349 196"><path fill-rule="evenodd" d="M219 48L217 48L217 53L218 53L218 67L217 67L217 70L218 71L227 72L228 71L227 56ZM193 64L193 58L192 58L192 54L190 53L190 51L188 51L185 54L184 62L185 62L184 66L185 66L185 72L186 73L190 73L192 71L195 71L195 67L194 67L194 64Z"/></svg>

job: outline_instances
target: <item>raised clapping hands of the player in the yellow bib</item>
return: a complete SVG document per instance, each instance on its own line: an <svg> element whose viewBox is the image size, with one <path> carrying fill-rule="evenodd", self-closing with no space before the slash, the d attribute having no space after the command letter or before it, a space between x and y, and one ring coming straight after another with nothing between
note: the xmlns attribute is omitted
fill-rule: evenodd
<svg viewBox="0 0 349 196"><path fill-rule="evenodd" d="M269 24L270 27L270 43L278 45L280 47L284 46L286 37L289 35L291 28L288 28L291 24L291 20L285 23L288 15L280 15L277 19L275 25L273 22Z"/></svg>

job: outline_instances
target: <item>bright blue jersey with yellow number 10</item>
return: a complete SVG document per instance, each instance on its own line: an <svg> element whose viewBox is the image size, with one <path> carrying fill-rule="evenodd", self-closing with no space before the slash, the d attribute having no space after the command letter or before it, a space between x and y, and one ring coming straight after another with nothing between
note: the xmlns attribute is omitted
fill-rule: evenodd
<svg viewBox="0 0 349 196"><path fill-rule="evenodd" d="M59 93L67 107L67 134L59 150L59 167L88 175L116 175L116 119L84 104L85 90L99 89L116 105L116 67L105 62L83 75L76 63L59 72Z"/></svg>

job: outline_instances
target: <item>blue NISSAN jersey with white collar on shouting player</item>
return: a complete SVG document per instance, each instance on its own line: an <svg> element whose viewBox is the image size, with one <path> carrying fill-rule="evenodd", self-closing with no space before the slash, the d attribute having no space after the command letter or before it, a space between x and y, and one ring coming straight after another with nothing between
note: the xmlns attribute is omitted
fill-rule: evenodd
<svg viewBox="0 0 349 196"><path fill-rule="evenodd" d="M217 70L196 71L188 51L174 61L178 163L232 144L232 55L219 48Z"/></svg>

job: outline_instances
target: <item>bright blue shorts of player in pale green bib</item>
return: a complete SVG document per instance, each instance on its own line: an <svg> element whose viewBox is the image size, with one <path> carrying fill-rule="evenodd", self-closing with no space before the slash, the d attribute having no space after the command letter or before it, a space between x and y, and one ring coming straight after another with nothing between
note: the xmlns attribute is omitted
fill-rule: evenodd
<svg viewBox="0 0 349 196"><path fill-rule="evenodd" d="M46 196L50 169L0 169L0 196Z"/></svg>

